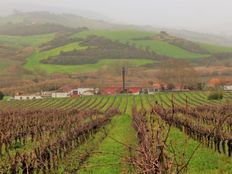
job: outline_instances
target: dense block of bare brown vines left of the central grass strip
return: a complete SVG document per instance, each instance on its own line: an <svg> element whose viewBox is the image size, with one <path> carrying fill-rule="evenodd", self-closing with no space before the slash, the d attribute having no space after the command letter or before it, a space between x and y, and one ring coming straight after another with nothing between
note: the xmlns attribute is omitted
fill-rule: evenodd
<svg viewBox="0 0 232 174"><path fill-rule="evenodd" d="M110 118L119 114L98 110L6 110L0 112L0 171L57 173L59 162ZM18 148L35 144L27 151ZM12 153L16 151L17 153Z"/></svg>

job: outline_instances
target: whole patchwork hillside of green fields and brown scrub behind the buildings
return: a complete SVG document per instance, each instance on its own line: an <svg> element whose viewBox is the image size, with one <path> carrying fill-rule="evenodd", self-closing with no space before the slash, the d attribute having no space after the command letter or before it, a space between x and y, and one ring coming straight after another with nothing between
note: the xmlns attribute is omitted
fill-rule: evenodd
<svg viewBox="0 0 232 174"><path fill-rule="evenodd" d="M43 28L38 28L36 32L43 31ZM22 80L18 74L33 81L52 78L53 74L78 75L78 78L83 75L86 80L94 76L96 80L98 74L101 77L118 75L122 66L136 72L137 79L143 76L152 79L156 77L159 65L168 59L188 61L207 78L215 74L227 77L232 73L232 48L192 42L164 31L77 28L75 31L49 31L39 35L0 35L0 45L15 49L13 54L30 50L17 60L10 58L11 52L7 56L1 54L0 73L10 75L16 81ZM201 72L203 67L207 70ZM6 84L9 83L8 77L5 78Z"/></svg>

